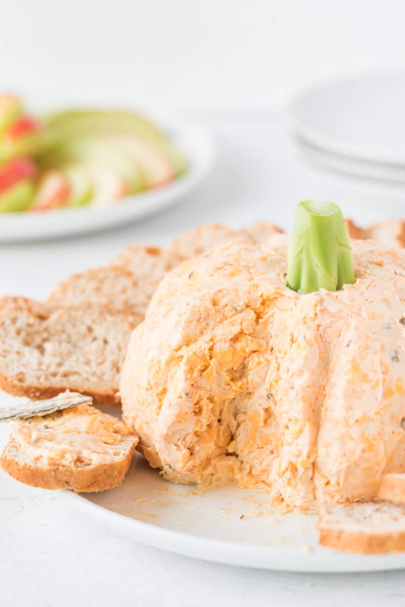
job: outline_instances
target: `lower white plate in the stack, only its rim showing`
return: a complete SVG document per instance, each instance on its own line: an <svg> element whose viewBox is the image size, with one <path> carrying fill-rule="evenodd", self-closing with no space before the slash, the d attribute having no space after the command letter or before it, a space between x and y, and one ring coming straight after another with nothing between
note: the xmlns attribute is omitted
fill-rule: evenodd
<svg viewBox="0 0 405 607"><path fill-rule="evenodd" d="M390 181L405 185L405 166L380 164L366 160L357 160L341 154L327 152L314 146L301 137L291 138L293 147L304 160L321 165L327 169L379 181Z"/></svg>

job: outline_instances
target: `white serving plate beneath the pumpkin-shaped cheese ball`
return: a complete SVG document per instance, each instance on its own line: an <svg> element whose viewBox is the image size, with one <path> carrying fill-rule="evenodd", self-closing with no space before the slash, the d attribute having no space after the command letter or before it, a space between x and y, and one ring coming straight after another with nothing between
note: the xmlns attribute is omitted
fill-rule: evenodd
<svg viewBox="0 0 405 607"><path fill-rule="evenodd" d="M136 453L121 487L59 495L102 528L169 552L227 565L279 571L346 572L405 568L405 553L363 556L318 546L316 516L274 514L266 493L236 486L199 492L164 481Z"/></svg>

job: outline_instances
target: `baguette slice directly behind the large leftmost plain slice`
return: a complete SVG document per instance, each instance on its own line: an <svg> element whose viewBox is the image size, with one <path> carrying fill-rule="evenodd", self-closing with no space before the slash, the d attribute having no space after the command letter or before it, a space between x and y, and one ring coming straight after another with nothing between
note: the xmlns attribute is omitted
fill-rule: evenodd
<svg viewBox="0 0 405 607"><path fill-rule="evenodd" d="M47 304L61 307L108 306L117 313L143 316L149 299L135 274L117 265L73 274L59 283L48 297Z"/></svg>

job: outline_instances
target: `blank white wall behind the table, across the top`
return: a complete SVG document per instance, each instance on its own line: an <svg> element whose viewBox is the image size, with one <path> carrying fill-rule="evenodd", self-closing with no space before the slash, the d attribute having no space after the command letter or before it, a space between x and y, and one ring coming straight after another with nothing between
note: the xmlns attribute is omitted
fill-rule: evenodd
<svg viewBox="0 0 405 607"><path fill-rule="evenodd" d="M28 98L267 110L403 67L402 0L1 0L0 86Z"/></svg>

